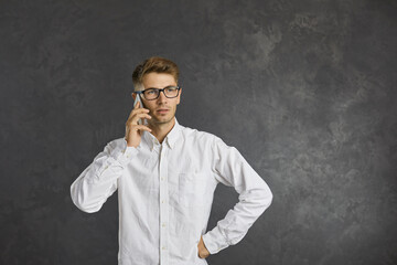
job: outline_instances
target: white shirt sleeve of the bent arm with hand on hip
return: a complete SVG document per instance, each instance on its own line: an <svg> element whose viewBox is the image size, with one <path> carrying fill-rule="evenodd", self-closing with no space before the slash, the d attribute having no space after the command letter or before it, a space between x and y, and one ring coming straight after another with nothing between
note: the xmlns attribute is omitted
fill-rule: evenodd
<svg viewBox="0 0 397 265"><path fill-rule="evenodd" d="M216 254L243 240L248 229L271 204L272 193L236 148L227 146L216 137L212 151L212 167L216 180L234 187L239 194L239 202L212 231L203 235L205 247L211 254Z"/></svg>

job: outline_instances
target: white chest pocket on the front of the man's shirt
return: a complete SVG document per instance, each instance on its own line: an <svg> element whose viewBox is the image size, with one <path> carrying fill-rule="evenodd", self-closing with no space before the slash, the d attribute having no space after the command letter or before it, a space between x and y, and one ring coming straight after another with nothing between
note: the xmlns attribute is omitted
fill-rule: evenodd
<svg viewBox="0 0 397 265"><path fill-rule="evenodd" d="M182 206L202 206L205 198L205 173L180 173L179 174L179 203Z"/></svg>

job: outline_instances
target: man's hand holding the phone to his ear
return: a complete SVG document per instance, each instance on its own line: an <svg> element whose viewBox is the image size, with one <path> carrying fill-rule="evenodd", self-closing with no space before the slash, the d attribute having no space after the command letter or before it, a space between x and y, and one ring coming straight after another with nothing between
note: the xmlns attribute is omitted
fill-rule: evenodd
<svg viewBox="0 0 397 265"><path fill-rule="evenodd" d="M138 147L141 141L142 130L151 131L146 125L138 125L138 120L141 118L151 118L148 114L149 109L141 108L140 103L133 107L126 123L126 141L129 147Z"/></svg>

